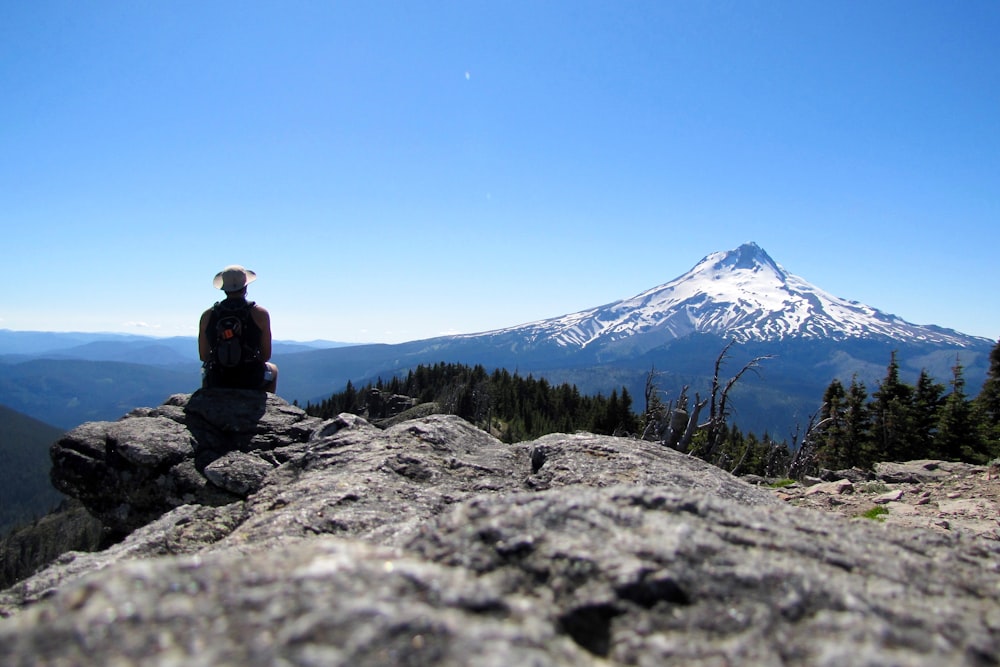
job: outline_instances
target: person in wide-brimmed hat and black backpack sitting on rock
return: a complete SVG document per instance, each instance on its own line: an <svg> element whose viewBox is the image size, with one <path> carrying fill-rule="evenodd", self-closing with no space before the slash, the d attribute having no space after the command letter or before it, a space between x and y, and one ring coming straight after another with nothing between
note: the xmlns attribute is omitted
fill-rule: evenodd
<svg viewBox="0 0 1000 667"><path fill-rule="evenodd" d="M253 271L233 264L212 281L226 298L202 313L198 325L203 387L277 391L278 367L270 362L271 316L246 298L247 285L256 279Z"/></svg>

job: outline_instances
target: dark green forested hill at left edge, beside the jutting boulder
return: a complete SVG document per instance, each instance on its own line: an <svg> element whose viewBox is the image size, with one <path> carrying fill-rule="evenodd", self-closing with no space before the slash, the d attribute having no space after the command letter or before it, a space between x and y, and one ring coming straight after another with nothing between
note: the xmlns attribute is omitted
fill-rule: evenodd
<svg viewBox="0 0 1000 667"><path fill-rule="evenodd" d="M0 405L0 534L39 518L63 499L49 482L55 426Z"/></svg>

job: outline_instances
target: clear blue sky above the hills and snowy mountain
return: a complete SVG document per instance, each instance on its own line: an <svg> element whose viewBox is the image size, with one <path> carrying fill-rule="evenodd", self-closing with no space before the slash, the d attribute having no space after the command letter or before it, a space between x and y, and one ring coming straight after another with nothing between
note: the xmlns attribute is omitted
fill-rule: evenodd
<svg viewBox="0 0 1000 667"><path fill-rule="evenodd" d="M4 2L0 328L583 310L756 241L1000 337L1000 3Z"/></svg>

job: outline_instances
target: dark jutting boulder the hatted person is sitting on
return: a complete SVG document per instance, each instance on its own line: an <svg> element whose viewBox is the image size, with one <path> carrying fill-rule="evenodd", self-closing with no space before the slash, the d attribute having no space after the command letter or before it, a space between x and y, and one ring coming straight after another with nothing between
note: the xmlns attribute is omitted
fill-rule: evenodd
<svg viewBox="0 0 1000 667"><path fill-rule="evenodd" d="M245 498L280 464L275 450L308 441L319 423L273 394L178 394L66 433L51 449L52 483L125 535L180 505Z"/></svg>

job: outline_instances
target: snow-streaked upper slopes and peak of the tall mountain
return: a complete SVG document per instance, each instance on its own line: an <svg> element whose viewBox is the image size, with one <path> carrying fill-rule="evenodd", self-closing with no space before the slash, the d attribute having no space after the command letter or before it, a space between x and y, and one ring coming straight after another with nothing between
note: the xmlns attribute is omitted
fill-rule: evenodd
<svg viewBox="0 0 1000 667"><path fill-rule="evenodd" d="M740 342L890 338L958 347L983 342L836 297L789 273L755 243L708 255L684 275L630 299L475 336L517 334L529 343L582 349L626 339L649 348L693 333Z"/></svg>

